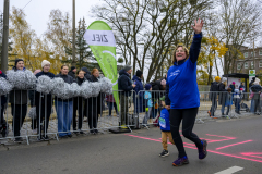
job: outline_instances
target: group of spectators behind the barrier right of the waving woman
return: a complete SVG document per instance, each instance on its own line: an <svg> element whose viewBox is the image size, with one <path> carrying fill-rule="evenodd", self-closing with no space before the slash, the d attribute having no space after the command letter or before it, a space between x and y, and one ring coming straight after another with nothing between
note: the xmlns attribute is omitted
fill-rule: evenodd
<svg viewBox="0 0 262 174"><path fill-rule="evenodd" d="M210 88L210 99L212 101L212 105L210 111L207 111L209 115L213 119L217 119L215 115L215 111L217 109L217 104L222 105L221 114L222 116L227 116L231 109L231 105L235 105L235 113L241 114L240 109L242 108L247 112L252 112L255 114L261 113L261 86L260 79L253 77L249 84L250 95L247 94L245 83L241 83L239 86L236 85L235 82L231 84L227 84L227 78L219 76L215 77L215 82L211 83ZM243 100L250 99L250 108L243 103ZM227 107L227 111L225 113L225 108Z"/></svg>

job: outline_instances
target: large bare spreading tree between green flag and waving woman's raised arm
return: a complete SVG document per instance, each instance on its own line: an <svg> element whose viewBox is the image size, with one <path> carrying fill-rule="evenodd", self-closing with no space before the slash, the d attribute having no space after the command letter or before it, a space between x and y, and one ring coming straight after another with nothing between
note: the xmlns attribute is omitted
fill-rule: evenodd
<svg viewBox="0 0 262 174"><path fill-rule="evenodd" d="M191 42L191 24L204 15L211 0L104 0L92 9L95 17L107 22L117 36L117 48L126 62L133 61L141 71L148 69L146 82L170 61L170 48ZM147 65L147 66L146 66ZM169 64L171 65L171 64Z"/></svg>

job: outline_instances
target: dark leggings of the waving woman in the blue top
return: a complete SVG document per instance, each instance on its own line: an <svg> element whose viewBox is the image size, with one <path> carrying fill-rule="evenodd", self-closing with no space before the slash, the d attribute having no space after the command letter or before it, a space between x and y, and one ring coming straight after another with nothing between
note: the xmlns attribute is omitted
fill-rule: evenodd
<svg viewBox="0 0 262 174"><path fill-rule="evenodd" d="M170 128L172 134L172 139L175 145L178 149L179 158L187 156L182 138L179 134L180 123L182 121L182 135L193 141L195 146L200 149L203 148L200 138L192 133L194 121L198 114L199 108L191 108L191 109L171 109L170 111Z"/></svg>

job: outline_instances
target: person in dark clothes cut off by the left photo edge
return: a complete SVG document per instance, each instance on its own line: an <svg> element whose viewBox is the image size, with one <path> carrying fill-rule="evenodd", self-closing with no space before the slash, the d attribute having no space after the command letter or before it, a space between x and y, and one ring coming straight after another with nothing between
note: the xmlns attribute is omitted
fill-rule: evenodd
<svg viewBox="0 0 262 174"><path fill-rule="evenodd" d="M7 79L7 75L1 70L0 70L0 77ZM7 96L4 95L4 96L1 96L1 100L0 100L0 132L2 132L2 135L4 135L5 133L3 134L3 132L7 130L7 121L3 117L5 104L7 104Z"/></svg>

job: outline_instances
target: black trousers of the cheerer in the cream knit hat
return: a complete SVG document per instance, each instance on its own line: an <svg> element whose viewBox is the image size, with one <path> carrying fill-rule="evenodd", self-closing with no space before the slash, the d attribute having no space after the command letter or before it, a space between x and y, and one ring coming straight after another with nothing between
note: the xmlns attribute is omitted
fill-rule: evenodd
<svg viewBox="0 0 262 174"><path fill-rule="evenodd" d="M52 96L51 95L44 95L36 92L36 117L37 117L37 133L40 133L41 129L44 130L44 135L46 136L49 120L51 115L51 108L52 108Z"/></svg>

